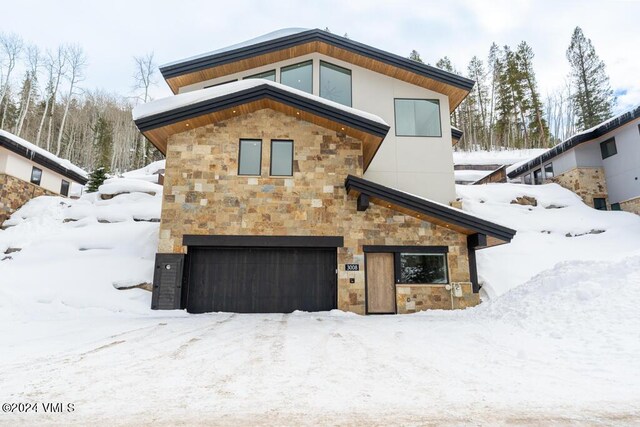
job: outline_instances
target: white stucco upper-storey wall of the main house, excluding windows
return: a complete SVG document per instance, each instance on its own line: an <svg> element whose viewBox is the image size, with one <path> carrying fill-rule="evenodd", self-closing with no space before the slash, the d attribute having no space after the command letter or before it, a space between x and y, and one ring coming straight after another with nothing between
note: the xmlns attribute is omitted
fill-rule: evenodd
<svg viewBox="0 0 640 427"><path fill-rule="evenodd" d="M451 124L447 96L397 80L319 53L300 56L268 66L185 86L180 92L190 92L205 86L240 79L313 60L313 93L320 93L320 60L351 70L352 106L383 118L391 129L383 141L364 177L386 185L448 204L454 200L455 180L451 147ZM437 99L440 103L441 137L399 137L395 132L394 98Z"/></svg>

